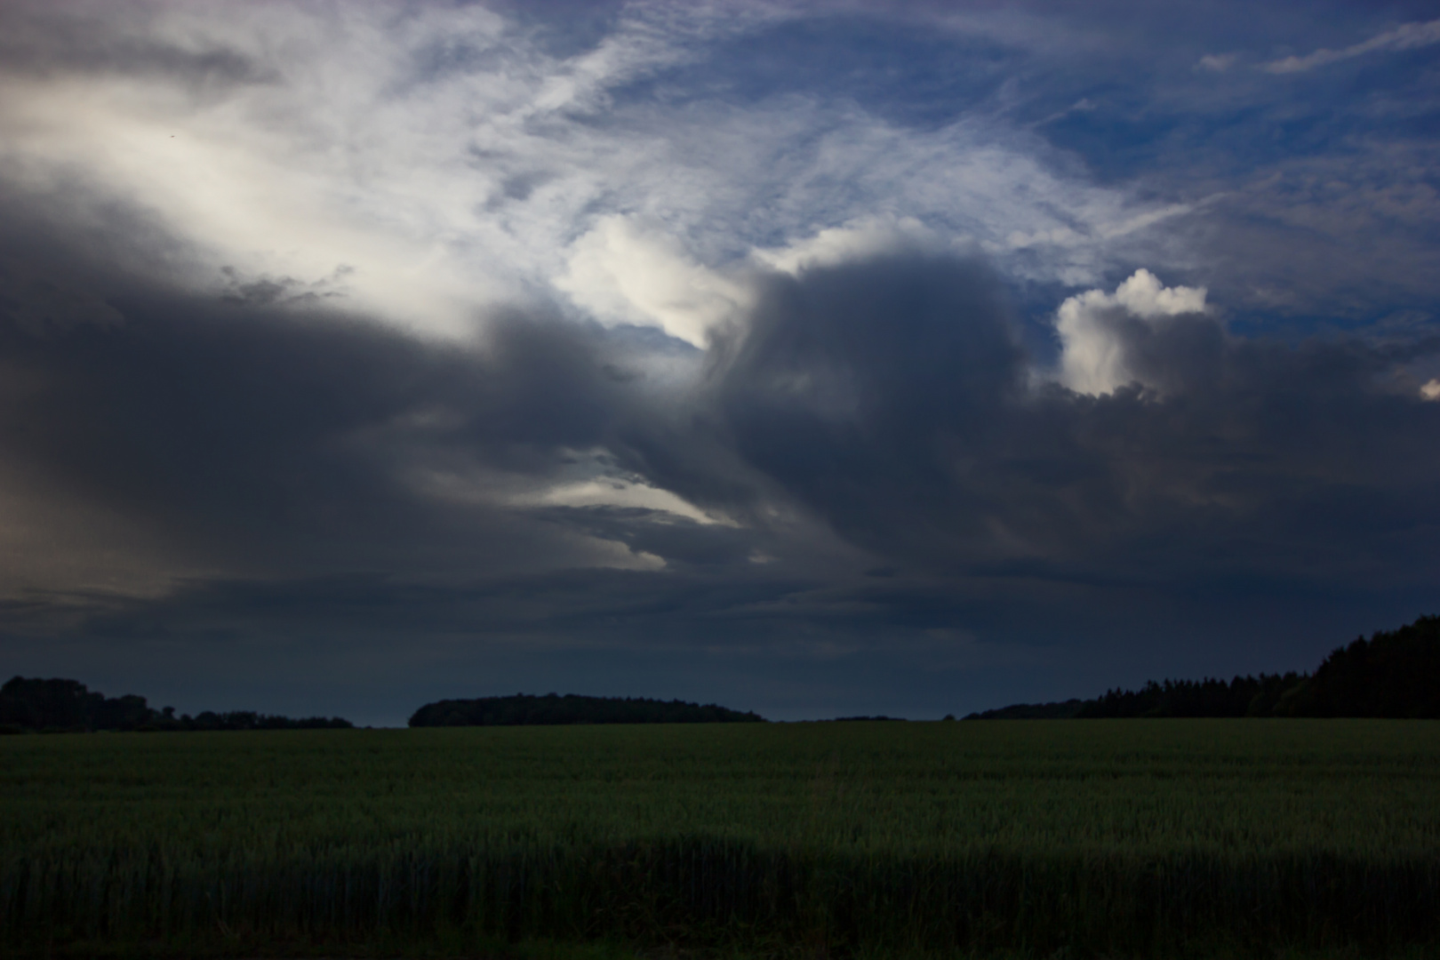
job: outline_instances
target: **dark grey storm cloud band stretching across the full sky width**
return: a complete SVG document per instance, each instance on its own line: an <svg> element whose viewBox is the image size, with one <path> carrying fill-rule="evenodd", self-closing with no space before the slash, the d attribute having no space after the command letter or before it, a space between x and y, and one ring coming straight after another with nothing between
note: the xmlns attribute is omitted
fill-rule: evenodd
<svg viewBox="0 0 1440 960"><path fill-rule="evenodd" d="M670 573L628 574L660 594L684 593L683 569L765 581L755 554L795 545L766 504L818 517L868 557L838 581L792 564L783 587L760 590L768 602L829 579L829 609L854 616L860 603L871 623L913 620L926 609L916 584L932 583L923 594L935 577L953 596L968 580L1040 596L1045 581L1380 589L1436 574L1440 404L1400 373L1433 343L1296 348L1233 338L1205 315L1112 311L1129 368L1153 389L1089 397L1034 381L984 265L894 255L757 278L757 305L713 347L701 386L657 399L622 370L634 354L613 341L636 343L624 330L530 312L492 320L482 350L428 345L341 315L137 288L79 262L72 289L124 320L36 328L10 308L6 462L157 531L194 570L413 581L374 589L420 632L441 629L426 607L465 609L426 581L585 566L569 531L665 558ZM461 468L539 482L586 448L609 449L616 478L744 524L456 502L408 482ZM865 576L887 567L897 574ZM206 590L181 593L251 616L243 592ZM359 602L344 613L344 596L320 589L317 609L337 625L373 616ZM824 619L827 604L792 597L783 613ZM590 629L566 607L550 596L536 609L549 630ZM468 628L446 617L442 632L508 622L492 603Z"/></svg>

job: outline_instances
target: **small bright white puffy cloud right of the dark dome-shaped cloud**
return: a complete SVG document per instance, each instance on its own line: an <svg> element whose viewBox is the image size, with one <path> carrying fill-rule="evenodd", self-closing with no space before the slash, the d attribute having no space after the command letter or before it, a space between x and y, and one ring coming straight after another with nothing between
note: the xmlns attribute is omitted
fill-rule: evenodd
<svg viewBox="0 0 1440 960"><path fill-rule="evenodd" d="M1061 354L1058 379L1077 393L1100 396L1140 381L1126 356L1116 321L1126 317L1164 324L1205 309L1205 288L1165 286L1149 271L1136 271L1113 294L1100 289L1070 296L1056 312ZM1153 386L1153 384L1143 384Z"/></svg>

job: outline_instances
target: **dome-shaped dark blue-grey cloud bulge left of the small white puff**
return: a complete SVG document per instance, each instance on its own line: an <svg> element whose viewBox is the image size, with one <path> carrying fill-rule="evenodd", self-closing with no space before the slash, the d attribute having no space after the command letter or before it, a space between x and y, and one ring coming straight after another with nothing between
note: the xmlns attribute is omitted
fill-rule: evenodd
<svg viewBox="0 0 1440 960"><path fill-rule="evenodd" d="M982 535L956 469L998 445L1024 380L982 268L896 258L769 278L740 343L719 353L733 353L716 406L736 450L844 535L886 554Z"/></svg>

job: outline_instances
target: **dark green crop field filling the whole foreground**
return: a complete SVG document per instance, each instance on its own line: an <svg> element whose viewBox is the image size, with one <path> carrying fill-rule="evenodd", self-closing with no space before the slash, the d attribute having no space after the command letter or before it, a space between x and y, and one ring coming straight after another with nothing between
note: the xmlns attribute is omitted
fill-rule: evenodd
<svg viewBox="0 0 1440 960"><path fill-rule="evenodd" d="M1437 956L1440 721L0 738L0 954L517 943Z"/></svg>

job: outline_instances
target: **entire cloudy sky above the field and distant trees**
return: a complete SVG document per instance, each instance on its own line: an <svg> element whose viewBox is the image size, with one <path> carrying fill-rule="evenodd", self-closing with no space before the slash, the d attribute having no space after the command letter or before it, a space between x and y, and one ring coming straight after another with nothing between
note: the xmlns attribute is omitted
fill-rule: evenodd
<svg viewBox="0 0 1440 960"><path fill-rule="evenodd" d="M962 715L1440 612L1430 3L0 4L0 672Z"/></svg>

